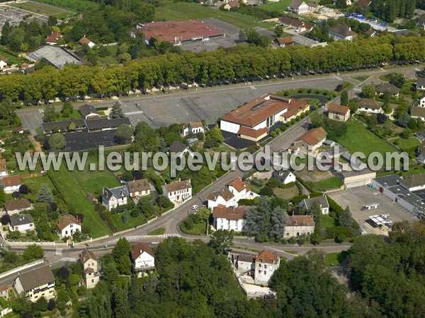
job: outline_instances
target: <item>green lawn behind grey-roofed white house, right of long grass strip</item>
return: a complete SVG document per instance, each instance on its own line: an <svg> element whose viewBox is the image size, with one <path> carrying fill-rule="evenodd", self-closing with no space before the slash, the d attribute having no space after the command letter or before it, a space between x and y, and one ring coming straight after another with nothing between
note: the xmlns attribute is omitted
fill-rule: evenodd
<svg viewBox="0 0 425 318"><path fill-rule="evenodd" d="M79 171L74 169L74 171L69 172L75 180L77 180L81 189L84 192L91 192L94 195L98 196L102 192L102 187L118 187L120 182L113 175L113 172L108 170L105 167L105 170L94 170L90 171L90 163L95 163L98 167L97 155L90 155L87 158L86 165L84 166L84 171Z"/></svg>

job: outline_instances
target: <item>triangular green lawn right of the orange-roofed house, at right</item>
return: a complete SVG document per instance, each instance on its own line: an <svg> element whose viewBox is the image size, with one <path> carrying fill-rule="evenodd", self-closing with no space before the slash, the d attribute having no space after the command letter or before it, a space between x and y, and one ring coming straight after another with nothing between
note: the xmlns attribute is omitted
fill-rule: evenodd
<svg viewBox="0 0 425 318"><path fill-rule="evenodd" d="M375 134L368 131L368 129L359 122L348 120L346 124L347 133L339 137L336 142L347 148L350 153L361 151L367 158L373 151L378 151L383 155L385 155L385 152L392 153L397 151L396 148L386 143L378 136L375 136Z"/></svg>

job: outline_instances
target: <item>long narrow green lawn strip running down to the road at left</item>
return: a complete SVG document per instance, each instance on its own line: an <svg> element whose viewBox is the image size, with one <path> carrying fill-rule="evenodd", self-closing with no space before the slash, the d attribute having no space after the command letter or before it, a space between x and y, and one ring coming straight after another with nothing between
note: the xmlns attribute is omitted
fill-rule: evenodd
<svg viewBox="0 0 425 318"><path fill-rule="evenodd" d="M79 177L82 178L82 175L84 173L80 173ZM103 222L101 216L98 215L94 206L91 205L86 194L79 187L76 179L74 179L74 176L67 170L65 165L62 165L58 171L50 170L49 176L52 178L52 182L55 184L57 190L62 192L64 201L69 206L72 206L77 213L84 214L84 223L89 225L91 237L96 238L111 234L111 230ZM91 180L94 179L92 178Z"/></svg>

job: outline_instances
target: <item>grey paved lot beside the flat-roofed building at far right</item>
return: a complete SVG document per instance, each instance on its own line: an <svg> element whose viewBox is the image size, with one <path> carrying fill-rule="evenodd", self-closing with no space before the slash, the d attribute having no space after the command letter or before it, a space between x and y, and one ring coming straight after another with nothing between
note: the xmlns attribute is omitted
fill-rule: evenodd
<svg viewBox="0 0 425 318"><path fill-rule="evenodd" d="M342 208L349 206L353 218L357 220L363 233L382 234L382 230L373 228L370 224L365 222L365 220L368 220L369 216L374 216L376 214L388 214L390 220L393 222L417 220L412 212L407 211L407 209L391 201L384 194L370 187L358 187L348 191L332 192L328 195L342 206ZM366 204L379 204L379 208L361 211L361 208Z"/></svg>

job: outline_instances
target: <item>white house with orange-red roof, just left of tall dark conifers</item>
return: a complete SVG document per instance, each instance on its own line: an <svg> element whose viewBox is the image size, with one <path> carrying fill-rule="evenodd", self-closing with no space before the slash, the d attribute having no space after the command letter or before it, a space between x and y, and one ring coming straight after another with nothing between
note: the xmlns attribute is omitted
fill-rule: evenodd
<svg viewBox="0 0 425 318"><path fill-rule="evenodd" d="M215 230L234 230L241 232L245 224L246 206L222 206L219 204L212 211Z"/></svg>

